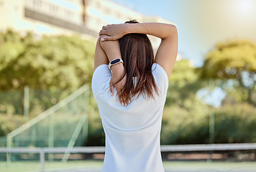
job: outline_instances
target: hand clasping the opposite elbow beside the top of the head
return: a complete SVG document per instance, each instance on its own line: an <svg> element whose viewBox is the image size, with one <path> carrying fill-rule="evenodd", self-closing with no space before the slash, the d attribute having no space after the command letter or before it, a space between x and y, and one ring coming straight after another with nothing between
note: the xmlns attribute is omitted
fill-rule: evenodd
<svg viewBox="0 0 256 172"><path fill-rule="evenodd" d="M101 41L115 41L120 39L127 34L127 24L110 24L102 27L99 32L99 36L101 34L109 35L109 37L102 37Z"/></svg>

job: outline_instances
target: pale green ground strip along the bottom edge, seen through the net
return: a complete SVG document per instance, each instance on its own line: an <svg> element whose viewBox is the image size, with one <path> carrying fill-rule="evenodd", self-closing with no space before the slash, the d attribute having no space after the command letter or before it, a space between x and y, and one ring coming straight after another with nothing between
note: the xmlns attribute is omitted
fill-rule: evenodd
<svg viewBox="0 0 256 172"><path fill-rule="evenodd" d="M100 171L103 161L61 161L45 162L45 171L62 171L62 169L91 169ZM254 171L256 162L202 162L202 161L164 161L166 171ZM9 165L0 161L3 172L35 172L40 171L39 161L14 161Z"/></svg>

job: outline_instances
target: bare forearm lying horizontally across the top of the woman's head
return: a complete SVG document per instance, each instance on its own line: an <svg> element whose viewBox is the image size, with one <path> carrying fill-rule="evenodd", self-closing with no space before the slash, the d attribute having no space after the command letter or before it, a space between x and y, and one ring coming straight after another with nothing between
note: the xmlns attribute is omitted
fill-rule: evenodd
<svg viewBox="0 0 256 172"><path fill-rule="evenodd" d="M172 37L177 32L173 24L163 23L138 23L138 24L125 24L126 34L150 34L160 39Z"/></svg>

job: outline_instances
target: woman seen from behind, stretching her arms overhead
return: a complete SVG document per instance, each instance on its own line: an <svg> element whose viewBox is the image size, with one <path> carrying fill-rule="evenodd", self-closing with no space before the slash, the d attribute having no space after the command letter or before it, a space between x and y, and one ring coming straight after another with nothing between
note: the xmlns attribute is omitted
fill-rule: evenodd
<svg viewBox="0 0 256 172"><path fill-rule="evenodd" d="M162 39L155 59L146 34ZM92 89L106 134L102 171L164 171L160 128L177 29L130 21L104 26L99 35Z"/></svg>

